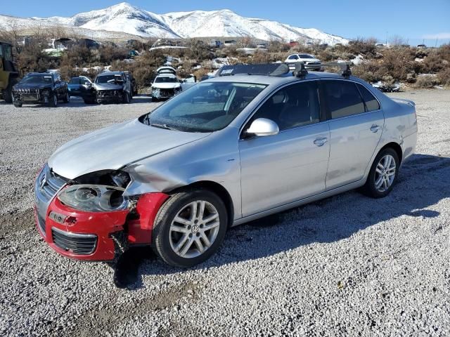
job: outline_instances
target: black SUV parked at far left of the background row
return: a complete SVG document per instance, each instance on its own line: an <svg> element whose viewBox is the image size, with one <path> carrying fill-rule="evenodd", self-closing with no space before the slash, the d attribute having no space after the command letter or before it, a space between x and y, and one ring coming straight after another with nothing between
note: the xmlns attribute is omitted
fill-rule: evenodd
<svg viewBox="0 0 450 337"><path fill-rule="evenodd" d="M25 103L58 106L58 100L69 103L68 84L53 72L30 72L13 86L13 103L22 107Z"/></svg>

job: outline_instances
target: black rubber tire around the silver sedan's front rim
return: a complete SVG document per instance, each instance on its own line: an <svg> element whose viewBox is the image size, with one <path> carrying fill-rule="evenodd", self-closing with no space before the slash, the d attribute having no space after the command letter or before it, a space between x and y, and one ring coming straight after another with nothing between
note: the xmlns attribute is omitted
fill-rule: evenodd
<svg viewBox="0 0 450 337"><path fill-rule="evenodd" d="M217 210L218 218L219 218L219 226L217 230L217 236L214 241L210 245L209 248L205 249L203 253L200 253L198 247L195 243L192 244L194 251L197 249L199 256L195 257L182 257L177 254L174 249L172 249L171 245L171 235L177 234L170 232L170 227L172 224L172 220L174 220L175 216L183 209L189 209L186 206L193 201L207 201ZM217 194L210 192L209 190L186 190L184 192L178 192L173 194L160 208L158 214L155 218L155 225L153 226L153 234L152 234L152 247L153 251L162 258L169 265L173 265L174 267L192 267L193 265L198 265L198 263L202 263L212 254L214 254L221 244L224 241L224 237L227 230L228 223L228 214L226 211L226 207L224 205L224 201L222 201ZM199 227L200 226L200 227ZM186 233L188 235L188 239L193 238L193 240L197 240L195 237L198 237L200 240L202 224L197 225L197 231L194 232L193 228L186 227L191 232ZM194 227L194 226L191 226ZM194 234L192 234L194 233ZM206 232L205 232L206 233ZM211 232L210 232L211 233ZM179 233L179 235L185 235ZM204 243L204 240L202 239ZM181 248L180 248L181 249ZM188 251L191 251L190 249Z"/></svg>

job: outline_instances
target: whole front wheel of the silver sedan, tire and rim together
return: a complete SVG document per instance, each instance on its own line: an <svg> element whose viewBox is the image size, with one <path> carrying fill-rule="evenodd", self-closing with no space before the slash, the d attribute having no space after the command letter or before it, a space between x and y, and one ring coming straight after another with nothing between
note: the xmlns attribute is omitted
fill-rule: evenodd
<svg viewBox="0 0 450 337"><path fill-rule="evenodd" d="M153 227L153 250L169 265L192 267L210 258L224 240L228 214L209 190L188 190L170 197Z"/></svg>

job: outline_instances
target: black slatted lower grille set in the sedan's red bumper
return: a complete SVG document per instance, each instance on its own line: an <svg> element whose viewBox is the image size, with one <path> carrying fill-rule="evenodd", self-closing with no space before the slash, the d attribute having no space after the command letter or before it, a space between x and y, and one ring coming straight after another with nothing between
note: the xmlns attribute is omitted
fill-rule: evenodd
<svg viewBox="0 0 450 337"><path fill-rule="evenodd" d="M60 249L79 255L94 253L97 246L97 236L95 234L76 234L53 227L51 229L51 237Z"/></svg>

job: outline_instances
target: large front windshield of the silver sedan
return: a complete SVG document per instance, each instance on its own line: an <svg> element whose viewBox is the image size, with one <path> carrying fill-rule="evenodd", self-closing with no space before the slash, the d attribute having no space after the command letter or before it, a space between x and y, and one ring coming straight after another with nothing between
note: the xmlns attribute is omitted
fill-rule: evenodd
<svg viewBox="0 0 450 337"><path fill-rule="evenodd" d="M217 131L229 125L264 88L265 84L203 82L140 120L150 126L179 131Z"/></svg>

